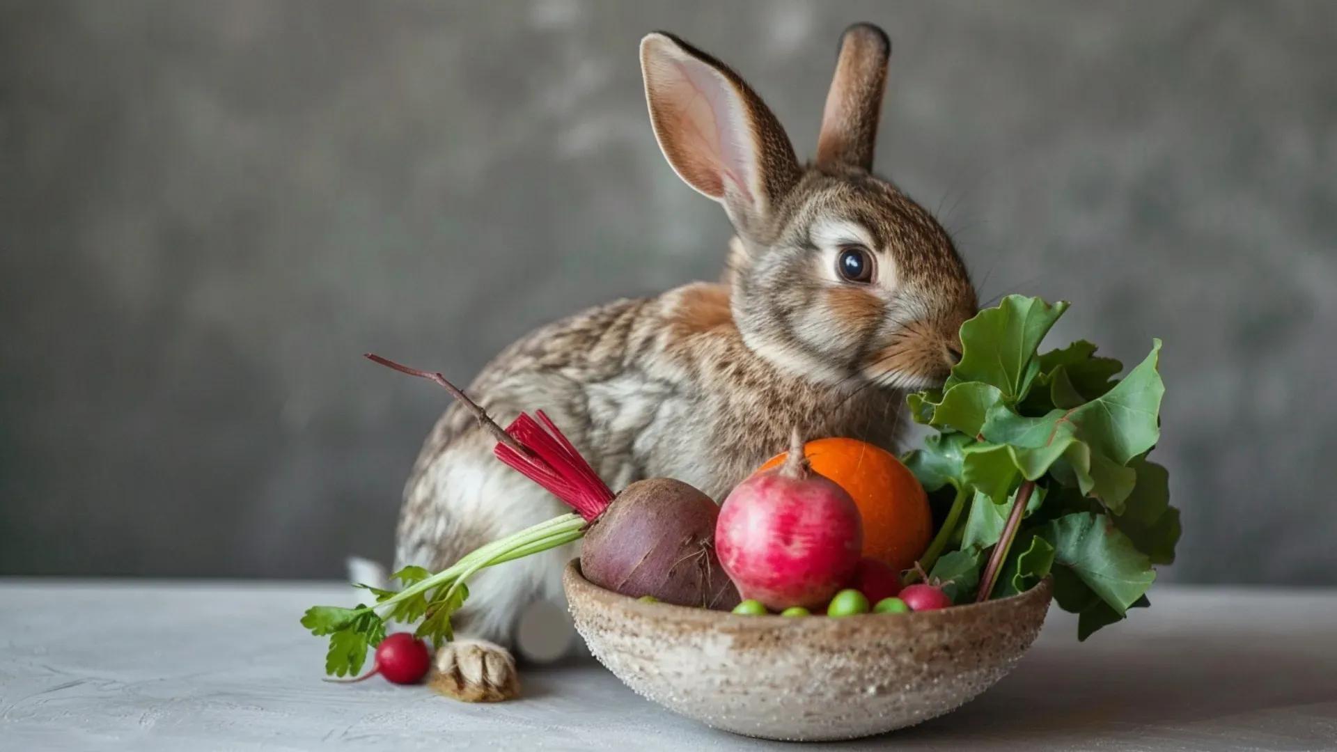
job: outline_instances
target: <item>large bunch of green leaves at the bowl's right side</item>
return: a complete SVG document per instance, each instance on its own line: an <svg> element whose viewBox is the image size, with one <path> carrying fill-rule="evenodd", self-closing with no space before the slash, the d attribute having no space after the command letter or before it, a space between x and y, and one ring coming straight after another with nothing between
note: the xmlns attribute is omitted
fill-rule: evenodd
<svg viewBox="0 0 1337 752"><path fill-rule="evenodd" d="M961 325L951 377L909 396L915 420L937 434L905 460L951 502L923 563L957 602L1052 575L1086 640L1148 605L1154 565L1174 561L1179 510L1166 468L1147 460L1161 436L1161 341L1123 379L1087 341L1040 353L1066 309L1008 296Z"/></svg>

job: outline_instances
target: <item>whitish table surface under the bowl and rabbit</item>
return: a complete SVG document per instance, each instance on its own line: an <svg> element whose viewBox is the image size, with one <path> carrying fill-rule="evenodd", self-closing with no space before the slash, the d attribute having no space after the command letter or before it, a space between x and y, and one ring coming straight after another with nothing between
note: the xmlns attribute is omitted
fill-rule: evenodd
<svg viewBox="0 0 1337 752"><path fill-rule="evenodd" d="M1158 586L1151 598L1086 644L1055 607L980 698L838 747L1337 749L1337 590ZM524 697L499 705L322 682L324 640L297 620L348 599L329 583L0 579L0 749L771 745L674 716L592 661L527 669Z"/></svg>

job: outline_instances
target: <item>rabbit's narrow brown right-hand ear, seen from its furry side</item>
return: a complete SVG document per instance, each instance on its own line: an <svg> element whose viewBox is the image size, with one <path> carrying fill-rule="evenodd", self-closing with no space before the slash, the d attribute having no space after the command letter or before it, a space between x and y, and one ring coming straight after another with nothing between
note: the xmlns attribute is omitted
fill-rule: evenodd
<svg viewBox="0 0 1337 752"><path fill-rule="evenodd" d="M890 55L892 43L873 24L854 24L841 35L836 76L826 94L822 130L817 136L818 165L873 169Z"/></svg>

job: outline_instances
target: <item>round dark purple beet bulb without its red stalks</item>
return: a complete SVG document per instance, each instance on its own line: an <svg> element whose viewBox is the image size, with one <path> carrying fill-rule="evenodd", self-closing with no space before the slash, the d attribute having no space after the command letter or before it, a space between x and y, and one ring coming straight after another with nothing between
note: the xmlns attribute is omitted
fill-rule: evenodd
<svg viewBox="0 0 1337 752"><path fill-rule="evenodd" d="M738 589L715 555L710 496L671 478L627 486L586 531L580 571L600 587L666 603L733 609Z"/></svg>

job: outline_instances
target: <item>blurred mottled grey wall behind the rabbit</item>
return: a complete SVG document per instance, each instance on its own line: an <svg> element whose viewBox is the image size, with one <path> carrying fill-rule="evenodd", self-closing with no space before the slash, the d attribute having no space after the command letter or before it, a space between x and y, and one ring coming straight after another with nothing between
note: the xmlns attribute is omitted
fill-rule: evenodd
<svg viewBox="0 0 1337 752"><path fill-rule="evenodd" d="M812 155L841 29L877 167L1051 343L1166 341L1165 579L1337 583L1337 4L0 0L0 574L342 577L532 326L718 276L636 44Z"/></svg>

